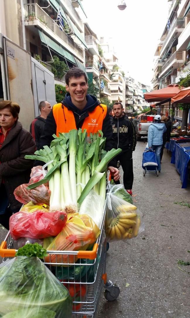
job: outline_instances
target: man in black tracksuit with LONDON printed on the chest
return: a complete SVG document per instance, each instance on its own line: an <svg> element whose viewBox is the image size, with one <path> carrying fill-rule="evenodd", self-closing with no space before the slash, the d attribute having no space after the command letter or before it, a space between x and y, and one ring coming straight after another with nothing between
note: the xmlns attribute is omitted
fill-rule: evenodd
<svg viewBox="0 0 190 318"><path fill-rule="evenodd" d="M115 147L122 152L117 156L123 169L123 184L127 192L132 195L133 187L133 151L136 146L136 133L133 123L122 116L123 106L117 102L113 106L114 118L111 120Z"/></svg>

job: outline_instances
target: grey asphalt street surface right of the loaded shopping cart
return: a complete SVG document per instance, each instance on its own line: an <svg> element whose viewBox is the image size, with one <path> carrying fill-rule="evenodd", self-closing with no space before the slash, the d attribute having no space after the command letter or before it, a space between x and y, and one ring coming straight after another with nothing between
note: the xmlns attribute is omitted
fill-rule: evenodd
<svg viewBox="0 0 190 318"><path fill-rule="evenodd" d="M181 189L180 176L164 150L158 177L143 177L142 153L134 152L134 204L144 214L145 231L137 238L111 243L107 273L120 287L116 301L102 291L96 318L190 318L190 274L177 260L190 261L190 209L174 202L190 203L190 186ZM0 240L6 230L0 228ZM180 268L190 272L190 266Z"/></svg>

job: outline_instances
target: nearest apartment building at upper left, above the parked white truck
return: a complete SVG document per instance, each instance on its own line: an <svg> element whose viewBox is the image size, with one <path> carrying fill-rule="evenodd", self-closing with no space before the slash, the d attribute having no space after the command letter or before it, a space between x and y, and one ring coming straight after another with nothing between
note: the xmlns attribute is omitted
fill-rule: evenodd
<svg viewBox="0 0 190 318"><path fill-rule="evenodd" d="M80 5L76 0L2 0L5 16L11 17L5 19L3 34L32 57L40 57L50 71L56 55L67 69L77 66L86 72L84 52L88 45Z"/></svg>

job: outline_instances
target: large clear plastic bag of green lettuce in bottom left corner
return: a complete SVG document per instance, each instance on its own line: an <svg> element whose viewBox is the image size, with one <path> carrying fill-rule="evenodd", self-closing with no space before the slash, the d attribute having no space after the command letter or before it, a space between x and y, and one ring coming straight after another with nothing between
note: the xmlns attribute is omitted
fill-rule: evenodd
<svg viewBox="0 0 190 318"><path fill-rule="evenodd" d="M68 290L38 258L41 245L27 244L0 265L0 315L4 318L71 318ZM6 268L6 270L5 270Z"/></svg>

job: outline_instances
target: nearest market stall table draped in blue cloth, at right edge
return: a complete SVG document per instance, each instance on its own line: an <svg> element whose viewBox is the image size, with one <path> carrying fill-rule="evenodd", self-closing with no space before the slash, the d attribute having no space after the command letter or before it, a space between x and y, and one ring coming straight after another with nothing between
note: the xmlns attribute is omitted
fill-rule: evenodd
<svg viewBox="0 0 190 318"><path fill-rule="evenodd" d="M171 163L175 164L176 170L180 174L182 181L181 188L187 188L188 169L190 163L190 142L176 143L172 153Z"/></svg>

